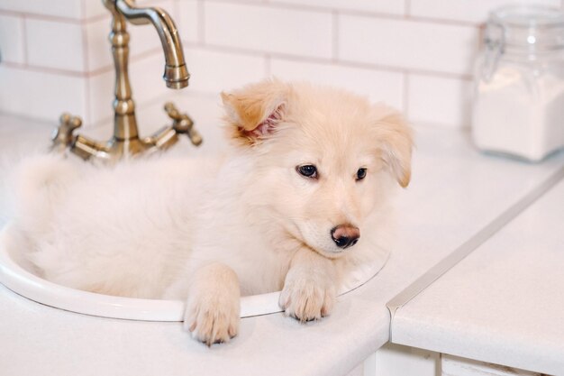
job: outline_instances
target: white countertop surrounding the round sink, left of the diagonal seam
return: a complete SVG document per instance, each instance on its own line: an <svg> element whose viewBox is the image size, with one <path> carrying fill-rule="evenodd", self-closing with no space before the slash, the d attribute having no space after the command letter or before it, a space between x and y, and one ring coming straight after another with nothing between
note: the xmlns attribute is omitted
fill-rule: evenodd
<svg viewBox="0 0 564 376"><path fill-rule="evenodd" d="M32 123L0 116L0 151L48 137L48 126ZM29 131L20 132L23 124ZM305 325L281 314L245 318L232 343L207 348L180 323L79 315L0 286L2 374L346 374L387 342L390 298L564 160L531 165L488 157L473 150L467 133L444 128L417 129L416 143L413 180L397 200L399 243L376 278L339 298L332 316Z"/></svg>

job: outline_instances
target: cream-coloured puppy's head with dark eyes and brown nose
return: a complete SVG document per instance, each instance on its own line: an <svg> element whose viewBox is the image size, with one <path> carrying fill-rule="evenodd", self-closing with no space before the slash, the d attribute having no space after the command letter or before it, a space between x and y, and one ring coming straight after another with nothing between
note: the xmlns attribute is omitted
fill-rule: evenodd
<svg viewBox="0 0 564 376"><path fill-rule="evenodd" d="M230 137L256 160L251 201L268 209L272 224L326 257L362 243L390 181L409 183L411 131L385 105L278 80L222 98Z"/></svg>

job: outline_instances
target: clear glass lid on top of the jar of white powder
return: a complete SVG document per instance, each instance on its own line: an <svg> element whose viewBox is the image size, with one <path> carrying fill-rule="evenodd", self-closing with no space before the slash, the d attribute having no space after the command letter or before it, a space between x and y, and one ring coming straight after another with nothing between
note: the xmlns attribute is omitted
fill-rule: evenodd
<svg viewBox="0 0 564 376"><path fill-rule="evenodd" d="M486 42L516 50L564 49L564 14L544 6L498 8L489 16Z"/></svg>

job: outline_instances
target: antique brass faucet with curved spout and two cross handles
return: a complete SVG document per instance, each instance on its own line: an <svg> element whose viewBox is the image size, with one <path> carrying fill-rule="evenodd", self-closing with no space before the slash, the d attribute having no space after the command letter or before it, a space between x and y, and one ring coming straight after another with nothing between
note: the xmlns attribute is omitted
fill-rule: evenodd
<svg viewBox="0 0 564 376"><path fill-rule="evenodd" d="M186 69L182 44L177 28L164 10L157 7L138 8L132 0L102 0L112 13L112 32L110 41L115 66L114 98L114 136L105 143L92 141L73 132L82 124L77 116L63 114L59 127L53 133L52 148L65 151L68 147L84 160L119 160L135 154L166 149L178 140L178 134L186 133L196 146L202 143L202 137L194 129L194 122L186 114L180 114L177 108L167 103L165 111L172 119L172 124L149 137L141 139L135 119L135 104L132 100L132 88L128 75L129 33L126 20L133 24L152 23L159 32L165 53L165 73L163 78L167 87L179 89L188 86L190 75Z"/></svg>

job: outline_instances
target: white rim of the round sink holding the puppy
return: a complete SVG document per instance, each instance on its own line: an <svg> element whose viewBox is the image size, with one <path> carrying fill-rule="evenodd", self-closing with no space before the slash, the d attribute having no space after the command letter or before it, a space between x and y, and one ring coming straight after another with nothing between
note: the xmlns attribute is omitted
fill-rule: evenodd
<svg viewBox="0 0 564 376"><path fill-rule="evenodd" d="M0 282L15 293L38 303L92 316L114 317L145 321L183 321L184 301L141 298L122 298L70 289L33 273L23 258L25 246L17 239L12 225L0 232ZM346 294L366 283L384 266L384 262L365 265L355 271L341 289ZM278 292L241 298L241 317L280 312Z"/></svg>

